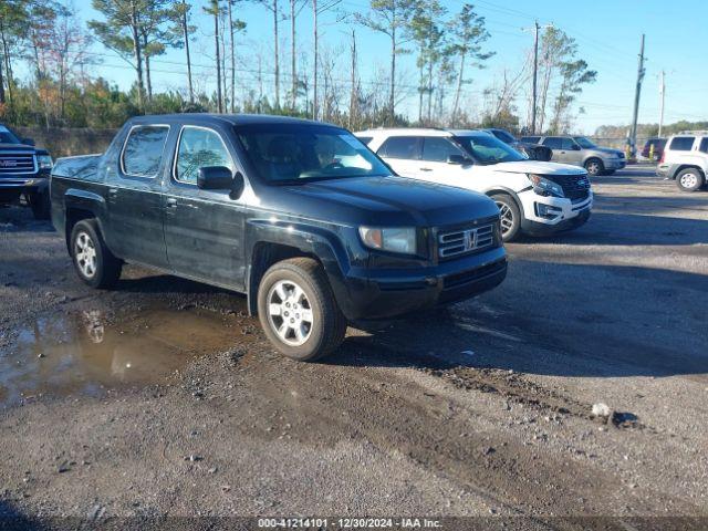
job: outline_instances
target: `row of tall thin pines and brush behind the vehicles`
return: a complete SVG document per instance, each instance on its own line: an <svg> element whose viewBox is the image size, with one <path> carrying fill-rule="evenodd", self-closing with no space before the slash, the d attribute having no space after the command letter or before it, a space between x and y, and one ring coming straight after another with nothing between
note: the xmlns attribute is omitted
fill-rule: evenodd
<svg viewBox="0 0 708 531"><path fill-rule="evenodd" d="M529 60L520 69L506 69L488 86L469 90L473 72L496 54L486 19L471 3L450 12L440 0L369 0L368 9L347 12L342 0L92 0L98 17L84 23L70 1L0 3L0 119L115 127L137 114L209 111L287 114L350 128L417 124L521 131L530 123L520 111L531 108L524 102L530 51L521 51ZM270 56L239 53L247 35L252 39L242 14L248 2L269 20L270 32L259 39ZM324 15L346 34L336 46L320 37ZM312 34L303 39L304 17ZM388 59L362 75L360 41L369 34L385 39L381 56ZM211 40L207 60L216 83L195 73L198 35ZM94 74L111 56L108 50L134 73L128 91ZM160 56L169 50L183 58L184 83L157 92L155 79L166 64ZM415 58L414 73L400 67L404 55ZM29 74L18 75L20 65ZM539 54L539 129L571 128L575 113L582 113L574 108L575 97L596 75L579 58L572 37L546 28Z"/></svg>

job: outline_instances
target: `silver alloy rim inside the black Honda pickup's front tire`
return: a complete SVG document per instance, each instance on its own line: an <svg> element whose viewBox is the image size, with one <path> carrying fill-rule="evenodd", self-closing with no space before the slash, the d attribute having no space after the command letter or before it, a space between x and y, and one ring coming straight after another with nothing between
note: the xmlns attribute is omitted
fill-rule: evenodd
<svg viewBox="0 0 708 531"><path fill-rule="evenodd" d="M268 323L287 345L300 346L310 337L312 306L303 289L292 280L280 280L268 292Z"/></svg>

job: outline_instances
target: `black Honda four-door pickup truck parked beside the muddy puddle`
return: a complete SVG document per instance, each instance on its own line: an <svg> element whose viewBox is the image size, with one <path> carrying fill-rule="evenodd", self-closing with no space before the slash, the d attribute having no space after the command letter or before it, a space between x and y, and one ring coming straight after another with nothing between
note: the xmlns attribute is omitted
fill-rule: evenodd
<svg viewBox="0 0 708 531"><path fill-rule="evenodd" d="M79 277L123 262L248 295L285 355L315 360L351 321L499 284L494 202L392 170L350 132L279 116L145 116L102 156L58 160L52 220Z"/></svg>

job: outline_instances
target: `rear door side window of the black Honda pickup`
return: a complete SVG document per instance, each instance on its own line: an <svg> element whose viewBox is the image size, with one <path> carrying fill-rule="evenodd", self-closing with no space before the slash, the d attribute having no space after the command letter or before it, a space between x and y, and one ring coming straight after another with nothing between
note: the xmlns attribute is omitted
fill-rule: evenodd
<svg viewBox="0 0 708 531"><path fill-rule="evenodd" d="M121 164L125 175L155 177L165 150L168 125L137 125L131 129L123 146Z"/></svg>

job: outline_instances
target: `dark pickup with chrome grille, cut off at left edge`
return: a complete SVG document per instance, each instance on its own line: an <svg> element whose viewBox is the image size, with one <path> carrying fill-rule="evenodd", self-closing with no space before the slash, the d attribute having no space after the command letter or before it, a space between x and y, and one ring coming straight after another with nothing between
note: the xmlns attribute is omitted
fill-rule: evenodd
<svg viewBox="0 0 708 531"><path fill-rule="evenodd" d="M49 219L49 175L52 157L0 124L0 205L24 202L37 219Z"/></svg>

